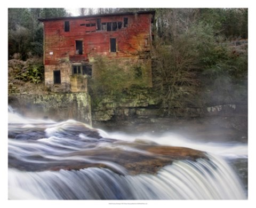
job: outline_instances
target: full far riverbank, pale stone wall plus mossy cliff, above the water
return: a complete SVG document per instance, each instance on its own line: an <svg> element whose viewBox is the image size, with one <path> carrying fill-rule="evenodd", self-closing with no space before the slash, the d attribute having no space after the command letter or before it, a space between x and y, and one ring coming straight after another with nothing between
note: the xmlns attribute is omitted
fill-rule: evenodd
<svg viewBox="0 0 256 208"><path fill-rule="evenodd" d="M75 119L107 131L194 132L203 139L247 141L246 102L185 108L177 116L163 108L154 91L144 89L118 98L91 99L88 93L9 95L9 105L26 117Z"/></svg>

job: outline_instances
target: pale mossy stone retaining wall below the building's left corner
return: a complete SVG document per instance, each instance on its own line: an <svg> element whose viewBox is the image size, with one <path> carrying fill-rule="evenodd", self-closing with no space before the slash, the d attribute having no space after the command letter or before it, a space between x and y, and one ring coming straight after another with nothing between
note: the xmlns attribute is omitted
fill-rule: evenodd
<svg viewBox="0 0 256 208"><path fill-rule="evenodd" d="M88 93L9 95L9 105L27 117L54 121L75 119L90 125L92 123L91 98Z"/></svg>

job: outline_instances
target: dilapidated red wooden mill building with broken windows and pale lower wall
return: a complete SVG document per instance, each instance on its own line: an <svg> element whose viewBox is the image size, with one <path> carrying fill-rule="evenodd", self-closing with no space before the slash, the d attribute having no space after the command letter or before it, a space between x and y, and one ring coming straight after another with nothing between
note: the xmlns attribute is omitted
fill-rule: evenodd
<svg viewBox="0 0 256 208"><path fill-rule="evenodd" d="M125 70L137 66L151 87L154 15L141 11L39 19L44 23L45 85L55 91L87 91L86 75L94 76L93 63L100 56L118 60Z"/></svg>

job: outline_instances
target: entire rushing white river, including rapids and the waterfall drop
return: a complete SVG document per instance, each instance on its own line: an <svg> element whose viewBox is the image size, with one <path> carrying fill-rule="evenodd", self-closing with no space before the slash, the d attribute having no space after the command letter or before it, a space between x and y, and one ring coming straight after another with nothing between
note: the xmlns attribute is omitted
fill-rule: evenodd
<svg viewBox="0 0 256 208"><path fill-rule="evenodd" d="M9 111L10 199L246 199L226 157L246 158L247 145L135 139Z"/></svg>

